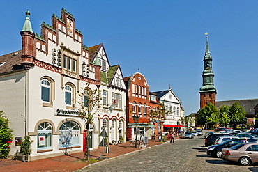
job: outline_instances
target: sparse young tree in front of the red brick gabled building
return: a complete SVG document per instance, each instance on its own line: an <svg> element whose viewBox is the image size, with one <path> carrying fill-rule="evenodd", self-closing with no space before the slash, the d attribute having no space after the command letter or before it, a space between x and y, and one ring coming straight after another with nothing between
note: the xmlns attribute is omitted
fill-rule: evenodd
<svg viewBox="0 0 258 172"><path fill-rule="evenodd" d="M171 110L167 109L164 103L160 103L160 106L154 107L154 109L149 114L149 118L153 123L157 123L160 128L160 136L161 136L161 127L165 122L167 115L171 113Z"/></svg>

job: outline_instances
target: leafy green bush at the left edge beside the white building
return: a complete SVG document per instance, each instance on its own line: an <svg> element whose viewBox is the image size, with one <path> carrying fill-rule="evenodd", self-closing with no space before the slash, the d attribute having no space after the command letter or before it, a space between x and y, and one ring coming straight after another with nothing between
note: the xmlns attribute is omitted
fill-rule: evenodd
<svg viewBox="0 0 258 172"><path fill-rule="evenodd" d="M9 128L9 120L0 111L0 158L7 158L10 152L10 144L13 141L13 130Z"/></svg>

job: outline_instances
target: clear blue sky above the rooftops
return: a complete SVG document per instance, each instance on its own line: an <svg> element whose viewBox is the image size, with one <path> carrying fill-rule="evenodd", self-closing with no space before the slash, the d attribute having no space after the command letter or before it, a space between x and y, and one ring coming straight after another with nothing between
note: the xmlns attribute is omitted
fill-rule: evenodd
<svg viewBox="0 0 258 172"><path fill-rule="evenodd" d="M140 68L150 91L170 84L185 115L199 110L206 32L217 100L258 98L257 0L3 1L0 55L21 49L27 9L33 31L40 34L40 24L51 24L61 8L75 17L84 45L103 42L123 77Z"/></svg>

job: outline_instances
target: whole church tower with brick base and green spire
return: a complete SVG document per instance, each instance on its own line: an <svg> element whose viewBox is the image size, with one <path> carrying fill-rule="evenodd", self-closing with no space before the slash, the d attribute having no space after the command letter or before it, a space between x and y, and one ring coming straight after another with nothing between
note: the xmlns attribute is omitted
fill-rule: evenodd
<svg viewBox="0 0 258 172"><path fill-rule="evenodd" d="M200 109L206 106L209 102L214 104L216 102L216 88L213 84L213 70L212 57L208 47L208 36L206 37L206 50L204 56L204 71L202 72L202 87L199 89L200 93Z"/></svg>

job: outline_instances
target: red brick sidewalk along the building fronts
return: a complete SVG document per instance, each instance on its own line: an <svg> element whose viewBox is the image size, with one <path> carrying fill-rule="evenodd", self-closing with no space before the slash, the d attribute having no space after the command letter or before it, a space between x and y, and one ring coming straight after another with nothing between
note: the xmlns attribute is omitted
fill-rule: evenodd
<svg viewBox="0 0 258 172"><path fill-rule="evenodd" d="M178 139L178 138L175 138ZM164 142L149 141L151 146L160 145ZM110 145L109 154L105 153L105 148L99 147L96 150L91 150L91 158L96 159L104 155L105 157L117 157L119 155L124 155L126 153L132 153L136 150L141 150L144 148L134 148L130 146L130 141L122 143L119 145ZM70 155L61 155L58 157L50 157L46 159L39 159L33 162L20 162L12 159L0 159L0 172L2 171L75 171L82 169L84 166L88 166L89 162L84 162L81 159L84 157L84 153L74 153Z"/></svg>

